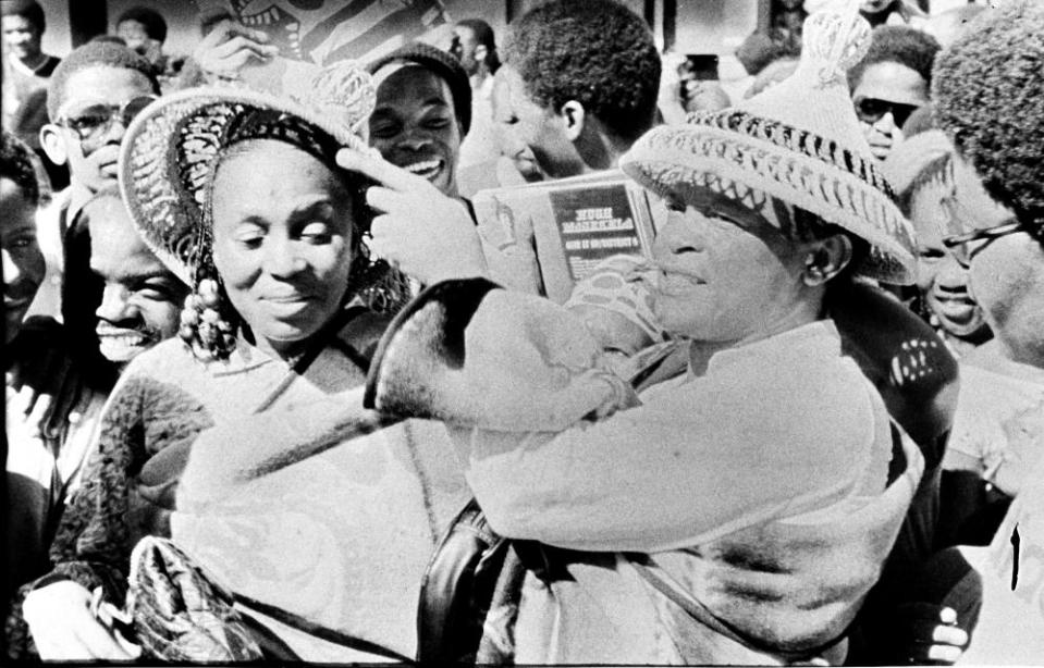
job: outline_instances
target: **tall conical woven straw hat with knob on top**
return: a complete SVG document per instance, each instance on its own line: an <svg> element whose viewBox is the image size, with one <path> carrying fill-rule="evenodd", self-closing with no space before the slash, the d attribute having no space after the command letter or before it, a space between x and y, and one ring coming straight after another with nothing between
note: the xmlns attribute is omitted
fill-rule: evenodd
<svg viewBox="0 0 1044 668"><path fill-rule="evenodd" d="M860 273L910 283L913 230L849 97L846 72L870 44L858 5L848 2L806 20L805 50L789 78L734 108L653 128L623 157L624 172L659 194L710 188L781 228L777 205L803 209L870 244Z"/></svg>

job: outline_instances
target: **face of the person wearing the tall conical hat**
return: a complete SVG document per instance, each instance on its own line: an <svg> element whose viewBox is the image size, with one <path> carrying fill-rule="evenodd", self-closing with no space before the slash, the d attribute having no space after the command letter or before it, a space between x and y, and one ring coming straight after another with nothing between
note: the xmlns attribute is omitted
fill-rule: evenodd
<svg viewBox="0 0 1044 668"><path fill-rule="evenodd" d="M667 332L756 341L794 313L807 253L761 215L710 190L671 201L656 236L653 311Z"/></svg>

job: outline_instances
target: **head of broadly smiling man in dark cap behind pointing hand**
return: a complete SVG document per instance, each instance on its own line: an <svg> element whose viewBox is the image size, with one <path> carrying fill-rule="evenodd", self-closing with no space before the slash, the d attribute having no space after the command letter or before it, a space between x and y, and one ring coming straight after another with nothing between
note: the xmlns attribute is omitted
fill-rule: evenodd
<svg viewBox="0 0 1044 668"><path fill-rule="evenodd" d="M460 143L471 127L471 87L457 60L414 42L372 62L377 107L370 145L385 160L458 197Z"/></svg>

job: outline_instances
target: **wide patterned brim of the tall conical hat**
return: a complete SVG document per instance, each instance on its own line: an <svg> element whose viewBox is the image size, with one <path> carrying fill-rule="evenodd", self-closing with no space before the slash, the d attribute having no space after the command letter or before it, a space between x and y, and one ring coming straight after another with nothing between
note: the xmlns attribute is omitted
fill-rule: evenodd
<svg viewBox="0 0 1044 668"><path fill-rule="evenodd" d="M802 208L870 244L858 268L884 283L913 282L913 231L891 197L857 175L757 137L709 125L664 125L621 160L659 195L714 182L741 184Z"/></svg>

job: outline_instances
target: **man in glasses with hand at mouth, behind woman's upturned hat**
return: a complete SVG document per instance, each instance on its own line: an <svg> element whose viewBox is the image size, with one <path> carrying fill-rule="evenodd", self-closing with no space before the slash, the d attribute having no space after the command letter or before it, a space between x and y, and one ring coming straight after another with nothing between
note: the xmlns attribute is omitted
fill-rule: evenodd
<svg viewBox="0 0 1044 668"><path fill-rule="evenodd" d="M56 164L69 165L70 185L41 212L39 237L48 277L33 313L61 313L65 233L85 201L116 183L123 133L158 95L149 63L121 45L88 42L54 69L47 89L50 123L40 129L40 145Z"/></svg>

